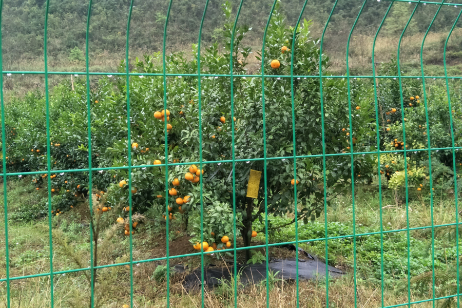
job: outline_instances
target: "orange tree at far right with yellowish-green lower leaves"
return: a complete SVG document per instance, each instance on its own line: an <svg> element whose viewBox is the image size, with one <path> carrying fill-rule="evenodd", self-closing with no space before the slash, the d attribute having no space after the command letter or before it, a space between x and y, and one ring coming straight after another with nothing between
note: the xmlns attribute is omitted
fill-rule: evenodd
<svg viewBox="0 0 462 308"><path fill-rule="evenodd" d="M383 66L382 75L397 75L398 68L395 60ZM449 121L449 105L447 90L444 81L428 81L427 84L427 114L429 126L427 127L426 107L420 79L402 80L402 100L404 110L401 114L401 97L399 82L394 79L381 80L379 85L379 103L383 107L386 123L386 133L383 134L383 148L385 150L403 150L403 128L406 129L406 149L409 183L414 184L417 189L428 186L430 179L428 159L428 138L432 150L432 178L433 185L440 188L450 189L453 187L453 156L450 147L451 129L454 131L455 146L462 144L459 133L462 125L460 105L461 88L458 84L450 82L450 95L452 106L453 125ZM427 130L428 128L428 130ZM429 136L430 134L430 136ZM442 148L442 149L441 149ZM422 150L424 149L424 150ZM455 151L457 172L460 171L459 161L462 153ZM382 170L391 181L392 186L396 183L404 185L404 157L403 152L390 153L381 159ZM396 179L394 179L396 177ZM458 185L462 181L458 180ZM393 188L394 188L393 187ZM421 191L419 189L418 191Z"/></svg>

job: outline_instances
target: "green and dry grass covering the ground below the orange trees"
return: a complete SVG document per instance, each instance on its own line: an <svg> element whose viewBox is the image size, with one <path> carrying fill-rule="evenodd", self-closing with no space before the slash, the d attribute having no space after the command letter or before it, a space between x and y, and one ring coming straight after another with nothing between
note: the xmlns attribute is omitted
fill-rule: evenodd
<svg viewBox="0 0 462 308"><path fill-rule="evenodd" d="M9 211L9 257L10 257L10 276L31 275L49 272L49 246L48 232L43 225L47 224L46 218L31 220L12 220L15 213L24 210L26 205L33 208L33 204L41 202L45 197L45 191L36 192L27 180L8 182L8 211ZM384 230L400 229L406 227L405 206L396 206L394 199L389 191L383 194L382 221ZM453 199L444 196L442 201L435 201L434 224L454 222L455 208ZM435 200L437 198L435 197ZM2 199L3 200L3 199ZM328 209L328 236L349 236L353 234L352 223L352 202L351 196L338 196L333 200L333 206ZM83 256L89 259L89 229L88 224L83 219L82 211L87 203L81 203L76 208L64 213L60 217L53 217L54 228L59 228L68 241L76 249L82 251ZM379 232L380 209L378 206L378 190L376 187L359 186L355 197L356 214L356 233ZM429 206L425 199L413 199L409 203L410 226L426 226L429 221ZM134 260L147 259L162 256L162 237L165 234L165 227L159 220L153 219L148 214L148 220L140 232L133 236L133 256ZM274 225L288 222L293 217L273 218ZM3 219L3 217L2 217ZM179 229L179 224L174 224L174 229ZM255 223L254 229L261 229L262 225ZM173 230L171 233L175 233ZM298 236L300 240L312 240L324 237L324 216L321 215L314 223L299 223ZM178 237L180 239L181 236ZM293 241L295 238L295 225L288 225L277 229L269 237L270 243ZM172 242L171 247L175 246L176 241ZM254 244L264 243L264 235L259 234ZM411 232L411 277L431 271L431 230L422 229ZM4 233L0 236L0 245L5 245ZM324 257L325 242L323 240L302 243L300 246L307 252L320 258ZM354 288L352 281L353 273L353 238L332 239L328 241L329 263L341 267L348 274L343 278L330 283L330 303L331 306L350 307L354 305ZM370 235L357 237L356 239L356 258L358 281L358 296L361 300L369 300L370 306L380 306L380 235ZM53 247L53 267L54 271L64 271L73 269L75 265L65 256L59 254L58 247ZM123 254L128 253L129 242L127 237L115 236L110 246L102 258L101 264L110 264ZM187 253L187 252L185 252ZM0 251L0 277L5 278L5 250ZM294 257L294 255L292 256ZM207 257L206 257L207 259ZM384 287L386 293L384 297L386 304L397 304L407 301L407 295L401 292L401 287L407 289L407 236L406 232L388 233L383 235L383 267L384 267ZM232 258L230 258L232 260ZM454 266L455 238L454 227L441 227L435 229L435 267L439 271L447 271ZM200 266L200 258L181 258L172 259L171 264L183 262L192 268ZM212 261L220 262L220 261ZM134 279L134 302L137 307L161 307L166 304L165 281L155 279L159 276L161 267L158 265L165 262L148 262L133 266ZM220 264L220 263L217 263ZM158 273L156 276L156 268ZM129 276L128 269L118 281L117 294L114 300L107 301L104 307L120 307L129 303ZM0 283L0 302L5 302L6 287L5 282ZM82 294L88 294L88 284L81 273L68 273L54 276L54 304L56 307L67 307L68 301L73 298L75 290ZM293 301L286 299L295 292L295 285L276 283L271 291L274 300L281 301L281 307L293 306ZM222 286L215 291L206 292L206 301L209 306L234 306L232 298L220 293L220 290L227 290ZM238 293L239 304L265 306L265 287L252 286L240 290ZM309 306L322 307L325 298L325 280L302 281L300 284L300 297L304 298ZM307 294L303 290L316 290L314 294ZM431 291L428 286L427 291ZM224 292L224 291L223 291ZM377 294L378 292L378 294ZM229 293L229 292L228 292ZM429 293L431 295L431 293ZM252 299L249 299L249 295ZM226 296L226 300L224 300ZM364 299L366 297L367 299ZM177 307L200 306L200 292L185 293L181 289L181 284L172 276L171 284L171 303ZM285 301L284 301L285 298ZM342 299L343 298L343 299ZM413 300L429 298L428 294L422 295L413 291ZM11 300L12 306L18 307L45 307L50 303L50 280L49 277L21 279L11 281ZM324 303L325 304L325 303ZM428 304L428 305L427 305ZM420 306L430 306L431 303L420 304ZM369 305L368 305L369 306Z"/></svg>

